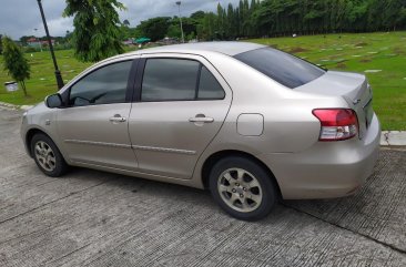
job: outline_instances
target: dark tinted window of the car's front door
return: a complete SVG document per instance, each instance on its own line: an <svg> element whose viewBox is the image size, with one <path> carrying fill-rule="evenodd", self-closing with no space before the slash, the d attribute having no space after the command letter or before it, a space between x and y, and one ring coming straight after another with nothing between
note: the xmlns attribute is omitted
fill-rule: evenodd
<svg viewBox="0 0 406 267"><path fill-rule="evenodd" d="M73 106L125 102L132 61L103 66L77 82L70 92Z"/></svg>

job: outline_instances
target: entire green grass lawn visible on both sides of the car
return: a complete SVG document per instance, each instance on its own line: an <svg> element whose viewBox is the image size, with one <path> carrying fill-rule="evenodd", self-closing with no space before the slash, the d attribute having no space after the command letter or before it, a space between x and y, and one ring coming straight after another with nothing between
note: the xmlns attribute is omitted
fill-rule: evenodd
<svg viewBox="0 0 406 267"><path fill-rule="evenodd" d="M406 32L328 34L298 38L255 39L291 52L331 70L365 73L374 90L374 109L384 130L406 130ZM12 79L3 71L0 57L0 101L33 104L57 91L53 64L48 51L26 54L31 64L27 81L29 97L22 91L8 93L3 83ZM57 51L58 63L67 82L90 63L73 58L73 51ZM368 71L377 72L368 72Z"/></svg>

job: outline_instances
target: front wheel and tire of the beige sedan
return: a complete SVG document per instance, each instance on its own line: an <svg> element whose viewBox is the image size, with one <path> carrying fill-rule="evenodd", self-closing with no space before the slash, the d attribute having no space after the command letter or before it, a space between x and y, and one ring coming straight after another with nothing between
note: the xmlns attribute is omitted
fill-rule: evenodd
<svg viewBox="0 0 406 267"><path fill-rule="evenodd" d="M45 134L35 134L31 140L31 154L37 166L48 176L60 177L68 171L68 164L53 141Z"/></svg>

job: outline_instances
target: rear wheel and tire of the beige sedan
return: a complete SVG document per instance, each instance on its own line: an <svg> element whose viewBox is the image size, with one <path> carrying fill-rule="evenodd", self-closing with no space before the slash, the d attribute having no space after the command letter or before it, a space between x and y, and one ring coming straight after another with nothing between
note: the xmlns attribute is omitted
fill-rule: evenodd
<svg viewBox="0 0 406 267"><path fill-rule="evenodd" d="M237 219L262 219L277 201L273 177L261 165L245 157L220 160L212 167L209 179L213 198Z"/></svg>

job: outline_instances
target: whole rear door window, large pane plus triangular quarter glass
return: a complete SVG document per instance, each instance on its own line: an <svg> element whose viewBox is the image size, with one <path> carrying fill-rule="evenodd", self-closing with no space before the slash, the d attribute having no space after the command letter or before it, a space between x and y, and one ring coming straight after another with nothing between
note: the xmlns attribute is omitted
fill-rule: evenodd
<svg viewBox="0 0 406 267"><path fill-rule="evenodd" d="M141 101L219 100L224 95L217 80L197 61L146 60Z"/></svg>

